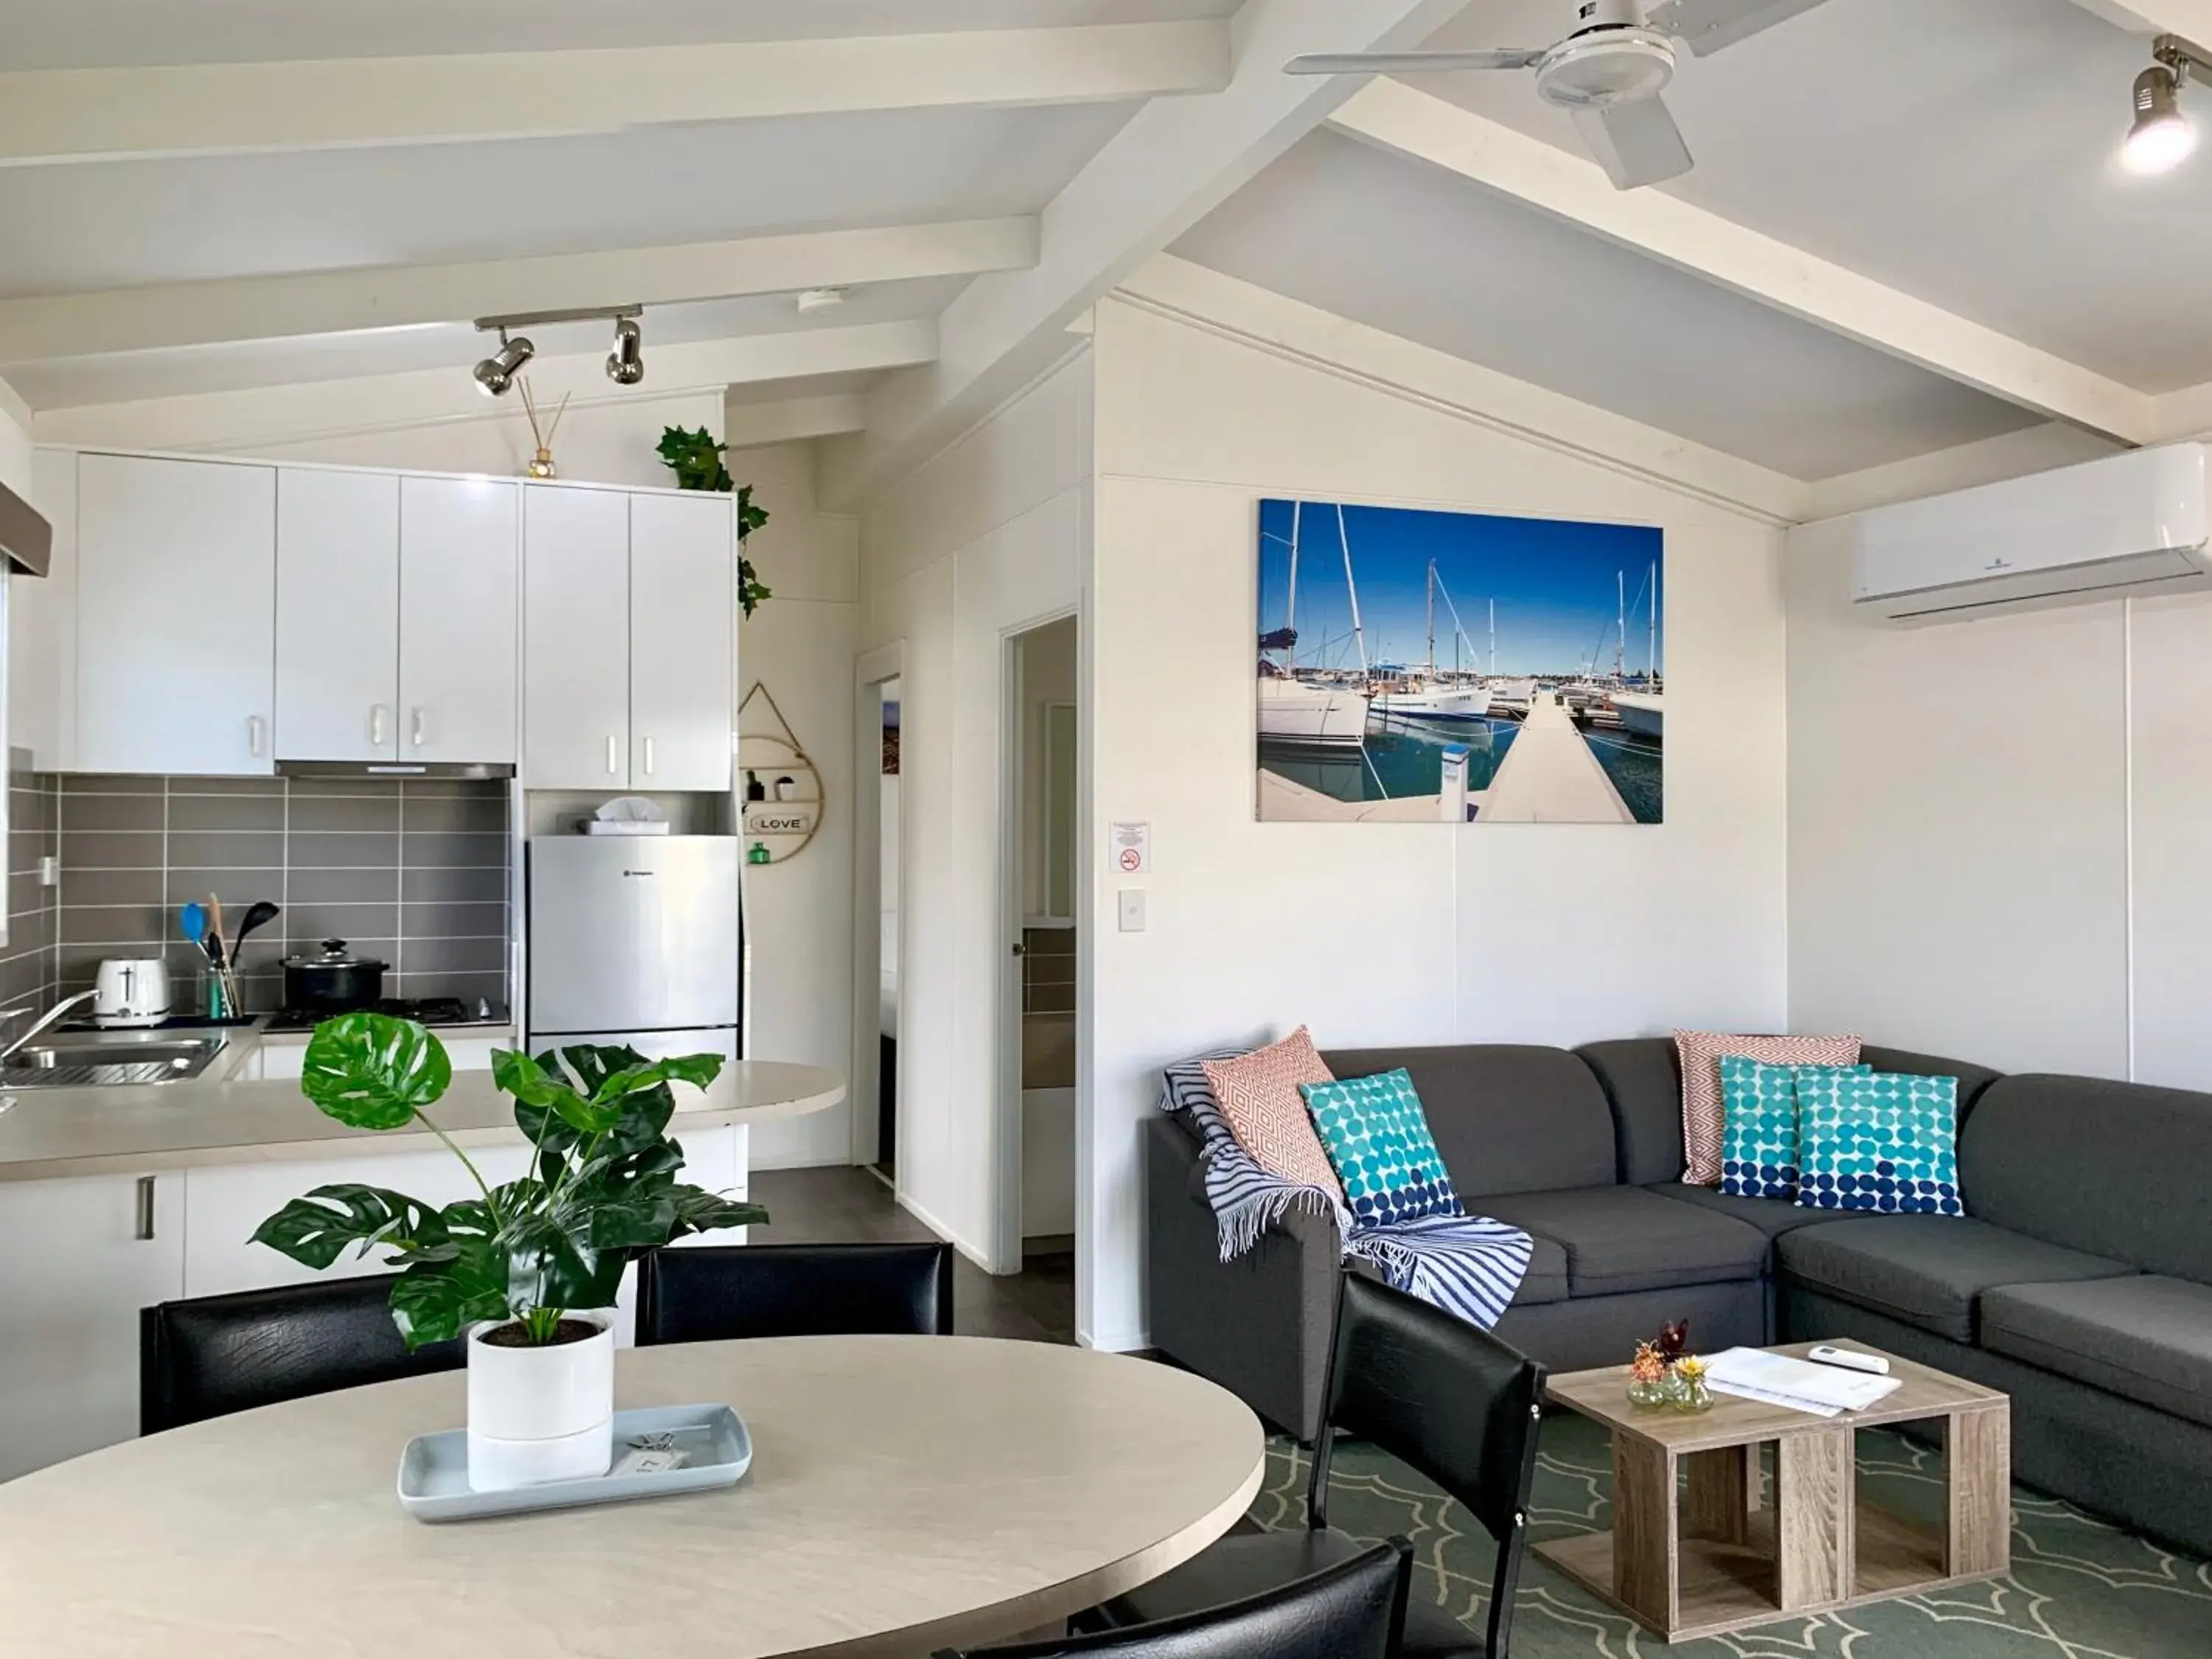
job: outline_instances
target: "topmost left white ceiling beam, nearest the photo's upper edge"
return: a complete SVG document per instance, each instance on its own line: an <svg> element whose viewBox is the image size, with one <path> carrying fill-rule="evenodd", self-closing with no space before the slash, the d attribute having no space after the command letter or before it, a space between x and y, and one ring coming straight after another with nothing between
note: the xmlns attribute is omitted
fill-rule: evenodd
<svg viewBox="0 0 2212 1659"><path fill-rule="evenodd" d="M0 75L0 166L613 133L677 122L1210 93L1221 22L604 51L33 69Z"/></svg>

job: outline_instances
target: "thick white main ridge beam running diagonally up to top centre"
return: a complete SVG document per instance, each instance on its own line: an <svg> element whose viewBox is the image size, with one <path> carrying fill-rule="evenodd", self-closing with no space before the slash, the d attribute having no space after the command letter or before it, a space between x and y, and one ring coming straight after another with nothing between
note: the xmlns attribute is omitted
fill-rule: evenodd
<svg viewBox="0 0 2212 1659"><path fill-rule="evenodd" d="M1214 97L1157 100L1044 208L1037 263L980 276L940 319L940 358L872 394L869 429L825 456L825 502L900 478L1020 392L1068 347L1068 325L1146 259L1318 126L1356 82L1285 75L1314 51L1418 46L1467 0L1245 0L1234 73Z"/></svg>

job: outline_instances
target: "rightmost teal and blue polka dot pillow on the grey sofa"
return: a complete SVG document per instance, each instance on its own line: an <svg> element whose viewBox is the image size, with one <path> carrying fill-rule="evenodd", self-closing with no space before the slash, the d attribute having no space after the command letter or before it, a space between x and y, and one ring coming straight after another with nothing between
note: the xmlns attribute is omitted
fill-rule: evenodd
<svg viewBox="0 0 2212 1659"><path fill-rule="evenodd" d="M1801 1206L1964 1214L1958 1077L1814 1071L1796 1079L1796 1097Z"/></svg>

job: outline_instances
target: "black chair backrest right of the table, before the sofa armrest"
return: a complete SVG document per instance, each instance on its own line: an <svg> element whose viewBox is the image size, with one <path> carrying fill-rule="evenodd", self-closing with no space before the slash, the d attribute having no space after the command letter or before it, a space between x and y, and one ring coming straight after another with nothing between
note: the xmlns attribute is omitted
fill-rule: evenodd
<svg viewBox="0 0 2212 1659"><path fill-rule="evenodd" d="M1340 1276L1327 1425L1371 1440L1455 1498L1498 1542L1491 1659L1504 1659L1528 1544L1544 1367L1509 1343L1358 1272ZM1307 1515L1327 1522L1329 1433L1314 1442Z"/></svg>

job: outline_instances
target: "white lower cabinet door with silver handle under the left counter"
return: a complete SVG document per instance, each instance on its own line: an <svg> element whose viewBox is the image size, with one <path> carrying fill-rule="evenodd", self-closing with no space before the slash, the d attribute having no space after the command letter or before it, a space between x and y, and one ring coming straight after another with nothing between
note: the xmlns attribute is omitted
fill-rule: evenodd
<svg viewBox="0 0 2212 1659"><path fill-rule="evenodd" d="M139 1310L184 1294L184 1177L0 1183L0 1480L135 1436Z"/></svg>

